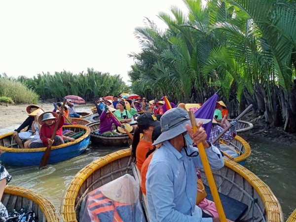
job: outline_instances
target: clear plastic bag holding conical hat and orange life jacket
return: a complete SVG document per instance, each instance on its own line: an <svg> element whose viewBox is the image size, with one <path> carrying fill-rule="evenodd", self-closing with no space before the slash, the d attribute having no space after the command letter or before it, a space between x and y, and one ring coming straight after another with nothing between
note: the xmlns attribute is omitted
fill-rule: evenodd
<svg viewBox="0 0 296 222"><path fill-rule="evenodd" d="M141 222L139 185L129 175L111 181L87 194L82 222ZM80 211L81 212L81 211Z"/></svg>

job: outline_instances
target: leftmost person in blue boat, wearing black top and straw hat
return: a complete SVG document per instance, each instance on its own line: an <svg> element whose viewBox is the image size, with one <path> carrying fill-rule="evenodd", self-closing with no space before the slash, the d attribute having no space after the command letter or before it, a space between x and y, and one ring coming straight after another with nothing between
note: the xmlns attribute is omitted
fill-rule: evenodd
<svg viewBox="0 0 296 222"><path fill-rule="evenodd" d="M37 105L30 105L30 106L27 107L26 110L30 114L31 112L34 112L39 108L40 107L38 107ZM22 140L28 140L28 138L32 136L31 126L32 126L32 123L33 123L34 120L35 120L34 116L29 116L22 123L22 125L20 125L19 128L14 130L14 133L12 134L12 137L14 138L14 140L16 141L16 143L19 145L20 148L24 148ZM21 130L23 130L26 127L28 127L27 130L25 132L21 132Z"/></svg>

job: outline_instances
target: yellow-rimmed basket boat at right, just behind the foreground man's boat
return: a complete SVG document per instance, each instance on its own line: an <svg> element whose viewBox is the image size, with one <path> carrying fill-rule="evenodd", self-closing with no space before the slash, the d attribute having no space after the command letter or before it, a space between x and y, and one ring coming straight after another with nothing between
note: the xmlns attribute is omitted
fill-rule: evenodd
<svg viewBox="0 0 296 222"><path fill-rule="evenodd" d="M232 159L234 162L237 162L242 166L245 165L247 158L251 155L251 148L247 141L236 135L232 141L220 139L220 142L236 150L238 157Z"/></svg>

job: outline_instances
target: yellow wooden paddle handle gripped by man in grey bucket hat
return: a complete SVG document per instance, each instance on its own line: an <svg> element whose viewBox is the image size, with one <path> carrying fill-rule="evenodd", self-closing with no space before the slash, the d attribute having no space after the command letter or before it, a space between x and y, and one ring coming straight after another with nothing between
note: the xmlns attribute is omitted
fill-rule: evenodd
<svg viewBox="0 0 296 222"><path fill-rule="evenodd" d="M193 111L188 111L188 114L189 114L189 117L190 117L192 130L193 130L193 133L194 133L196 130L198 130L197 126L196 126L196 119L195 119L195 116L194 116L194 112ZM203 165L204 170L205 170L207 180L209 182L211 193L213 195L213 199L214 199L214 202L215 202L215 205L216 205L216 208L217 208L217 212L218 212L218 215L219 215L220 222L226 222L226 217L225 217L225 214L224 214L224 210L223 210L223 207L222 207L220 196L218 194L218 189L216 187L215 180L214 180L211 168L210 168L210 164L209 164L209 161L208 161L206 150L205 150L202 143L197 144L197 147L198 147L198 151L199 151L199 155L200 155L202 165Z"/></svg>

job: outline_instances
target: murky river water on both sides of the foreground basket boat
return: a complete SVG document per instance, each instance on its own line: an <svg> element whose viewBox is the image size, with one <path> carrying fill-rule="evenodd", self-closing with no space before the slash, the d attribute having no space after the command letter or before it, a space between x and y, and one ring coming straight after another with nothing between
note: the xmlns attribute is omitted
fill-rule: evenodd
<svg viewBox="0 0 296 222"><path fill-rule="evenodd" d="M252 155L247 160L246 167L271 188L281 203L285 218L289 217L296 208L295 148L272 143L261 137L251 137L248 142ZM5 167L12 176L10 185L36 191L59 208L64 191L74 175L92 161L116 150L118 148L98 149L89 146L80 156L49 164L47 169L40 171L37 166L19 167L5 164Z"/></svg>

